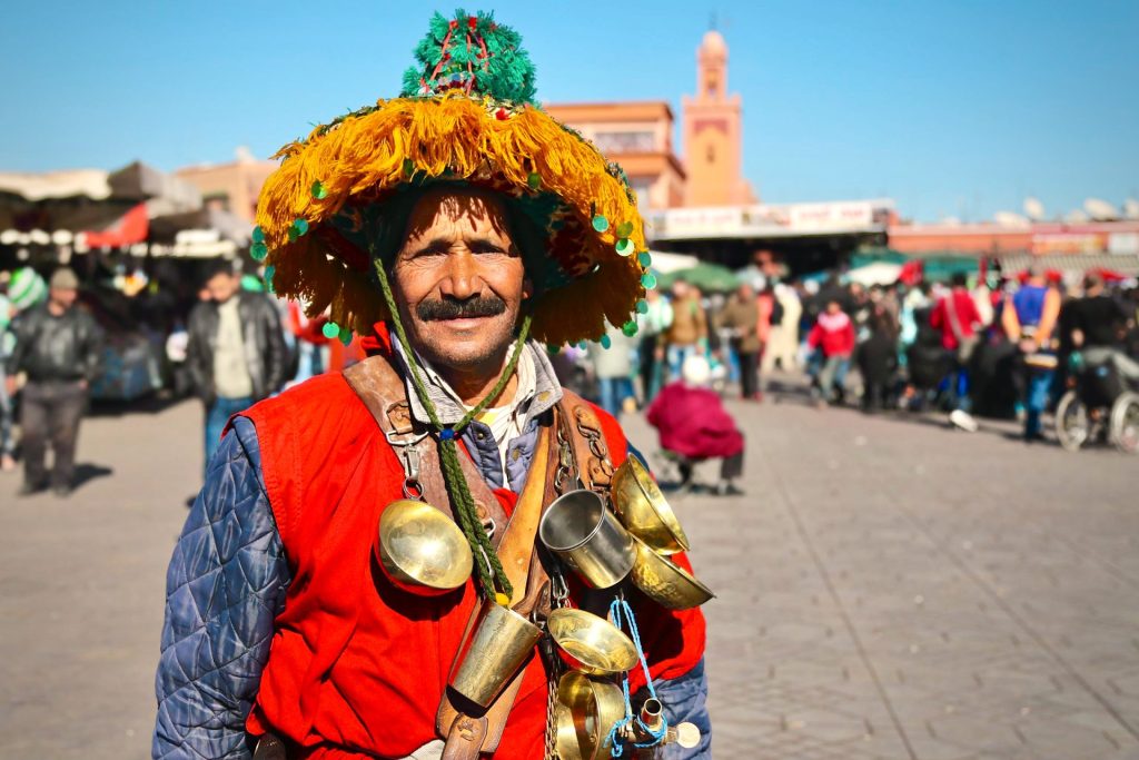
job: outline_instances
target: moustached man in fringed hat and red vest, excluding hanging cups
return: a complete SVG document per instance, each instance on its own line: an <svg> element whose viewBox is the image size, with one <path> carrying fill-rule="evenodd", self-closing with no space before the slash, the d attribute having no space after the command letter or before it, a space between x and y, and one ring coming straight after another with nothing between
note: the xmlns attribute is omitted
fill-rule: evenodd
<svg viewBox="0 0 1139 760"><path fill-rule="evenodd" d="M417 50L402 97L287 147L262 190L253 253L274 288L328 309L329 332L364 332L369 356L230 424L167 575L156 758L541 758L567 739L549 709L560 659L482 649L502 678L473 702L452 678L465 630L621 605L612 589L587 599L535 541L579 481L607 499L629 452L558 386L547 346L600 340L606 317L636 332L652 283L636 194L535 107L509 27L436 15ZM458 586L393 575L382 517L408 499L462 526ZM633 704L652 679L670 724L703 729L674 757L711 757L703 616L622 588L647 655Z"/></svg>

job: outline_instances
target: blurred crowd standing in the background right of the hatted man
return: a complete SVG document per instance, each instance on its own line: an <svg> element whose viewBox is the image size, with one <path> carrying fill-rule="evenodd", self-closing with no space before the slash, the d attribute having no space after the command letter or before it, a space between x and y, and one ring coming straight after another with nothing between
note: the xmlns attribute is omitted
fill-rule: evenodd
<svg viewBox="0 0 1139 760"><path fill-rule="evenodd" d="M1043 415L1082 374L1109 375L1117 390L1107 395L1136 390L1137 312L1134 280L1097 270L1075 281L1029 269L870 286L837 272L757 277L730 295L678 280L667 295L649 294L636 337L614 330L609 350L582 352L584 391L620 415L650 404L663 384L682 379L687 358L700 356L711 384L738 382L749 401L764 399L779 368L805 373L820 408L940 409L967 431L977 428L975 414L1016 417L1024 439L1039 441Z"/></svg>

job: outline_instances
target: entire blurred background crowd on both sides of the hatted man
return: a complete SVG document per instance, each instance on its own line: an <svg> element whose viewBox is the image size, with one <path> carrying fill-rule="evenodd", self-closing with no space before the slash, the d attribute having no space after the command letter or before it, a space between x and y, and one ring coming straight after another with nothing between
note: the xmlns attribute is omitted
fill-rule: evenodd
<svg viewBox="0 0 1139 760"><path fill-rule="evenodd" d="M25 493L71 491L90 398L131 400L158 389L196 395L208 460L232 414L362 357L351 335L272 297L270 283L229 262L191 278L118 272L101 288L81 287L67 268L46 273L0 272L0 467L16 469L18 394ZM719 459L714 490L736 493L744 436L721 403L730 385L761 402L773 376L778 397L803 373L820 408L940 409L966 431L977 430L974 415L1016 417L1027 441L1044 435L1043 415L1059 404L1066 444L1087 438L1097 415L1114 415L1121 394L1139 391L1137 313L1134 280L1101 271L1075 283L1030 269L870 286L837 272L756 275L734 293L704 293L680 278L663 293L648 291L637 329L564 346L554 363L564 384L614 416L645 409L681 487L695 465ZM1085 377L1099 390L1088 391ZM1113 424L1116 443L1134 450L1139 397L1129 403Z"/></svg>

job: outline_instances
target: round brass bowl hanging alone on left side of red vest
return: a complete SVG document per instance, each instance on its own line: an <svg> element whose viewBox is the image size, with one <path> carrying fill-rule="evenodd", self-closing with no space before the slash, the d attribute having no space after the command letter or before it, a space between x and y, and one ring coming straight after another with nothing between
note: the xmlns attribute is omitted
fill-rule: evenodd
<svg viewBox="0 0 1139 760"><path fill-rule="evenodd" d="M419 596L459 588L470 578L475 562L454 521L412 499L392 501L384 508L376 554L388 580Z"/></svg>

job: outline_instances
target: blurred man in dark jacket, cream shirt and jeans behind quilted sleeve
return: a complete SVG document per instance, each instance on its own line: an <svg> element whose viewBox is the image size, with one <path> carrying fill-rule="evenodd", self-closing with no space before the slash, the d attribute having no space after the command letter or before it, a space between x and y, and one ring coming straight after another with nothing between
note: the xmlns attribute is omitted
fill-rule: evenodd
<svg viewBox="0 0 1139 760"><path fill-rule="evenodd" d="M214 264L205 279L210 300L190 313L186 366L205 403L205 461L232 415L280 390L288 361L280 318L261 293L241 289L232 264Z"/></svg>

